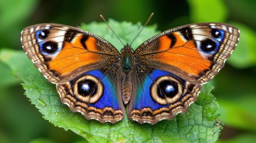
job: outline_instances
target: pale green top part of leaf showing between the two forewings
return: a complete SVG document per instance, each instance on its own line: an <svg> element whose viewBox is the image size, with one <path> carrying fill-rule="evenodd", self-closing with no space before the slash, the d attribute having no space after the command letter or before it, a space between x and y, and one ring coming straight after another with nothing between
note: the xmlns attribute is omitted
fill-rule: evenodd
<svg viewBox="0 0 256 143"><path fill-rule="evenodd" d="M127 43L131 44L132 40L134 40L135 36L137 36L138 32L143 27L141 23L132 24L131 22L127 21L119 23L113 19L109 19L107 23L114 30L124 45ZM116 38L115 34L109 29L109 27L107 27L106 23L82 23L81 29L94 33L95 35L100 35L102 38L112 43L112 45L115 46L119 51L121 51L121 49L124 47L118 38ZM132 43L132 47L136 49L141 43L158 33L159 31L156 30L156 24L145 27L140 33L140 36L138 36Z"/></svg>

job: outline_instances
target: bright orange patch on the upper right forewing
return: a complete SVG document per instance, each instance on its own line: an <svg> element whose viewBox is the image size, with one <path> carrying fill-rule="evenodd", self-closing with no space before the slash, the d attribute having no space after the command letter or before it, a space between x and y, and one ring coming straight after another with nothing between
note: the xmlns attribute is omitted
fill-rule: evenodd
<svg viewBox="0 0 256 143"><path fill-rule="evenodd" d="M175 41L168 36L159 38L159 54L155 54L154 59L160 63L178 67L193 76L198 76L203 70L211 66L211 61L199 54L198 48L193 41L185 41L178 33L173 34ZM175 42L175 43L172 43ZM171 48L171 43L174 44Z"/></svg>

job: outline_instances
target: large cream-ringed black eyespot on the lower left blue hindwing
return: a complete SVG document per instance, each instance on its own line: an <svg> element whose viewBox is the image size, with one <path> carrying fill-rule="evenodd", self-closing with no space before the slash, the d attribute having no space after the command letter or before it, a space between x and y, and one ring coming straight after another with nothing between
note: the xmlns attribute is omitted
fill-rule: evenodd
<svg viewBox="0 0 256 143"><path fill-rule="evenodd" d="M90 104L100 100L100 97L103 95L103 84L97 77L90 74L79 77L71 86L73 86L74 95L78 100Z"/></svg>

